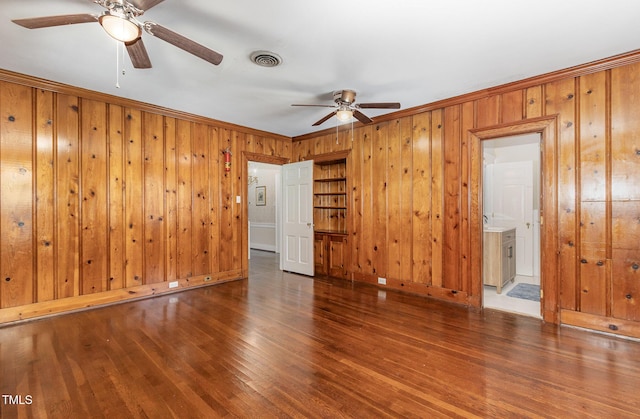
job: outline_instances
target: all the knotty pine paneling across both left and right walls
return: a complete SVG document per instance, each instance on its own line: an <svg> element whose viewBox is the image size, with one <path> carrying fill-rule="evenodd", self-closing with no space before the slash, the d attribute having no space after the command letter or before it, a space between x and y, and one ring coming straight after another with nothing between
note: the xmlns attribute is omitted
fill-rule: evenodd
<svg viewBox="0 0 640 419"><path fill-rule="evenodd" d="M2 73L0 322L246 275L235 197L248 156L340 150L351 150L352 277L479 307L479 144L532 130L544 134L545 319L640 337L638 62L633 52L293 144Z"/></svg>

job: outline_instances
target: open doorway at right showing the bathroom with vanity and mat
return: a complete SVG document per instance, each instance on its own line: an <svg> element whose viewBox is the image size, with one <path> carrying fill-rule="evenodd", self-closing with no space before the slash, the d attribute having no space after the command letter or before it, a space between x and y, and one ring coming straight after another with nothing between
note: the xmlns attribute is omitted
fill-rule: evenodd
<svg viewBox="0 0 640 419"><path fill-rule="evenodd" d="M540 133L482 142L483 306L541 317Z"/></svg>

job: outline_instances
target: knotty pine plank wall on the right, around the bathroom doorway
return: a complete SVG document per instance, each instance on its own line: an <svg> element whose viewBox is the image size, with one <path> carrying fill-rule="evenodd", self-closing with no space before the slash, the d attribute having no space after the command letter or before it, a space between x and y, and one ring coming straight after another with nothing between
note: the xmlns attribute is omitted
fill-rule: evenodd
<svg viewBox="0 0 640 419"><path fill-rule="evenodd" d="M351 150L349 271L355 280L481 305L474 131L555 118L544 148L557 225L545 319L640 336L638 53L476 92L336 136L294 138L293 160ZM499 130L498 130L499 131ZM553 138L551 138L553 137ZM475 165L475 166L474 166ZM476 170L477 171L477 170ZM556 199L557 197L557 199ZM553 236L553 237L551 237ZM557 315L557 316L556 316ZM555 316L555 317L554 317Z"/></svg>

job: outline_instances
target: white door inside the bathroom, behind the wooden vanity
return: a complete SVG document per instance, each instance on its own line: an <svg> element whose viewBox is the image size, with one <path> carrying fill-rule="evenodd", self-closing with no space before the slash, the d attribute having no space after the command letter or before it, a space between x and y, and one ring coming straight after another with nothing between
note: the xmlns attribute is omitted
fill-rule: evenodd
<svg viewBox="0 0 640 419"><path fill-rule="evenodd" d="M491 223L516 229L516 274L533 275L533 162L493 165Z"/></svg>

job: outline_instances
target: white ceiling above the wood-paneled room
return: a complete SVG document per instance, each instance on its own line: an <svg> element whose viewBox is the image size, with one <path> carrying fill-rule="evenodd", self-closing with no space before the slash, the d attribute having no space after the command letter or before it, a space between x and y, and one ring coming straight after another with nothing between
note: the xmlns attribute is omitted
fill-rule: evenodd
<svg viewBox="0 0 640 419"><path fill-rule="evenodd" d="M98 23L28 30L11 19L100 13L91 0L0 0L0 68L287 136L332 92L410 108L640 47L637 0L165 0L140 17L224 55L219 66L143 33L153 68L116 87ZM256 50L283 64L259 67ZM122 67L122 60L121 67ZM389 110L366 110L375 117Z"/></svg>

